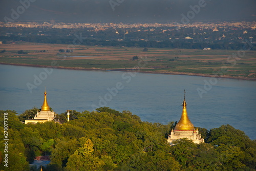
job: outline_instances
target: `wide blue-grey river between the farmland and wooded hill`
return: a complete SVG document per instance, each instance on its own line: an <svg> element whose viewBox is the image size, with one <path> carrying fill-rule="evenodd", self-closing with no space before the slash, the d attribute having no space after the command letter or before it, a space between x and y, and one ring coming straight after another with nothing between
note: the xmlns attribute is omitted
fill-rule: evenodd
<svg viewBox="0 0 256 171"><path fill-rule="evenodd" d="M22 114L40 108L46 87L48 104L58 114L108 106L167 124L179 121L185 89L194 126L209 130L230 124L256 139L256 81L8 65L0 65L0 73L1 110Z"/></svg>

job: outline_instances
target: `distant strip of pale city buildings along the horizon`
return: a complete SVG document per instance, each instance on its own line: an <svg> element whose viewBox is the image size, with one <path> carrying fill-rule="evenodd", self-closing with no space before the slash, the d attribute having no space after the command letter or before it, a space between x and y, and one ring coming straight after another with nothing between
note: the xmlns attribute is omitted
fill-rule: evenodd
<svg viewBox="0 0 256 171"><path fill-rule="evenodd" d="M256 22L191 22L189 24L182 24L177 22L170 23L133 23L133 24L125 24L125 23L64 23L64 22L55 22L55 20L51 20L50 22L0 22L0 27L23 27L23 28L67 28L67 29L75 29L75 28L95 28L95 31L105 30L106 28L113 29L122 29L122 28L157 28L157 27L176 27L176 29L180 28L201 28L201 29L212 29L212 31L219 31L218 28L249 28L256 29Z"/></svg>

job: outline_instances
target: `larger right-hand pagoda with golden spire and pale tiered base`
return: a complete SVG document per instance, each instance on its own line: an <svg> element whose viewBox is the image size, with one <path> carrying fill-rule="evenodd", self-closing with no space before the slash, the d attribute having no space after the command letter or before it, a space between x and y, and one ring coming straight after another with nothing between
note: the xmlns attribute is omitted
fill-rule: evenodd
<svg viewBox="0 0 256 171"><path fill-rule="evenodd" d="M175 129L170 132L168 137L168 142L172 145L174 140L187 138L189 140L193 140L194 143L199 144L200 142L204 142L204 139L201 138L198 129L195 130L193 123L189 120L187 116L187 103L185 100L185 91L184 91L184 101L183 101L183 111L181 114L180 121L176 124Z"/></svg>

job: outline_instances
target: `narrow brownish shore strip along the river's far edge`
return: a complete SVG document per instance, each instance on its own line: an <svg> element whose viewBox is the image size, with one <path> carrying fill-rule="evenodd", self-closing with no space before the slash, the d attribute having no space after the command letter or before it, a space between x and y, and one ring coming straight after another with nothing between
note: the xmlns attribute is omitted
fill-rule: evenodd
<svg viewBox="0 0 256 171"><path fill-rule="evenodd" d="M99 68L81 68L81 67L49 67L49 66L40 66L40 65L28 65L23 63L2 63L3 65L13 65L13 66L26 66L26 67L37 67L37 68L55 68L55 69L68 69L68 70L86 70L86 71L122 71L122 72L141 72L141 73L151 73L151 74L170 74L170 75L190 75L190 76L201 76L201 77L216 77L216 78L231 78L231 79L243 79L243 80L253 80L256 81L256 78L247 78L247 77L234 77L234 76L216 76L216 75L210 75L210 74L195 74L195 73L185 73L185 72L161 72L161 71L141 71L141 70L134 70L132 68L126 68L126 69L99 69Z"/></svg>

